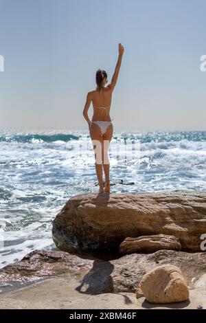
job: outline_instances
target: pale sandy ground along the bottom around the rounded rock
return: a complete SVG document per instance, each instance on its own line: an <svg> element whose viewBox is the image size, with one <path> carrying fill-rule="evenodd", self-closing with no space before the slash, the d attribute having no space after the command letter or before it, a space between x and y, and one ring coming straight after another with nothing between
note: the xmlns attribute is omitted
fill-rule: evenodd
<svg viewBox="0 0 206 323"><path fill-rule="evenodd" d="M76 291L79 282L67 275L35 283L0 296L0 309L196 309L206 308L206 275L190 291L190 301L150 304L135 293L89 295Z"/></svg>

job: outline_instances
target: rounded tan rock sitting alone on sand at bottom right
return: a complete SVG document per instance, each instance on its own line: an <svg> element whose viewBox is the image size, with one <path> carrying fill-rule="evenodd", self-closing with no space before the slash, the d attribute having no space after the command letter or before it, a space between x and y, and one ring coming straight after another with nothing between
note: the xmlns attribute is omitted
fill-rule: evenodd
<svg viewBox="0 0 206 323"><path fill-rule="evenodd" d="M190 296L181 269L169 264L152 269L142 278L136 296L142 295L150 303L183 302Z"/></svg>

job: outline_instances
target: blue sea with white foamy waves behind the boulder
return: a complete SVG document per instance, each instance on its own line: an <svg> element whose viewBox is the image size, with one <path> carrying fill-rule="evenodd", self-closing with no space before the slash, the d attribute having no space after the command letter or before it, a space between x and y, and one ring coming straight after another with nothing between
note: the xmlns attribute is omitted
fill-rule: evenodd
<svg viewBox="0 0 206 323"><path fill-rule="evenodd" d="M56 249L52 221L69 198L98 192L88 131L1 131L0 267ZM206 189L206 131L117 131L111 192Z"/></svg>

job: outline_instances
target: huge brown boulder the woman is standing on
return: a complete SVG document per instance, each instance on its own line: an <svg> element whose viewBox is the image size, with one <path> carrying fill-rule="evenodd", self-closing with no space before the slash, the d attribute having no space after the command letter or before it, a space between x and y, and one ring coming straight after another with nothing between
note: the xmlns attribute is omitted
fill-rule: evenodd
<svg viewBox="0 0 206 323"><path fill-rule="evenodd" d="M206 192L78 194L53 222L57 247L69 252L119 252L127 237L166 234L182 250L201 252L206 233Z"/></svg>

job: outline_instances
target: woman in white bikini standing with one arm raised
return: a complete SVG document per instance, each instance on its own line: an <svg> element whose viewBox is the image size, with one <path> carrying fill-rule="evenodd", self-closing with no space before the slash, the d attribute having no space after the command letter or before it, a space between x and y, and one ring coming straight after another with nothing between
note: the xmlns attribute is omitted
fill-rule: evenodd
<svg viewBox="0 0 206 323"><path fill-rule="evenodd" d="M119 57L111 83L105 87L107 82L106 71L98 69L96 72L97 87L95 91L87 93L87 101L84 106L83 115L89 124L89 132L95 150L95 169L99 182L99 192L110 192L109 182L109 162L108 162L108 144L113 136L113 124L109 115L111 107L111 98L113 89L117 82L119 69L122 63L124 47L119 45ZM93 103L93 117L89 120L88 110L91 102ZM97 158L98 157L98 158ZM103 183L103 169L105 175L105 184Z"/></svg>

